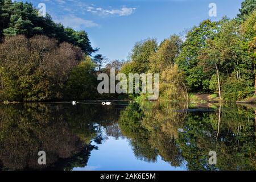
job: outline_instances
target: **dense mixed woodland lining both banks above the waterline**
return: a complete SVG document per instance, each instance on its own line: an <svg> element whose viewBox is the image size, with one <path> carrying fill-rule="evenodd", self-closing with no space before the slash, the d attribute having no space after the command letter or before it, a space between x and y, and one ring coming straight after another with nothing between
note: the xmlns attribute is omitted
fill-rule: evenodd
<svg viewBox="0 0 256 182"><path fill-rule="evenodd" d="M98 95L97 74L112 67L125 74L159 73L160 99L209 93L220 101L243 100L256 93L255 21L256 0L245 0L234 19L204 20L184 38L137 42L125 62L102 67L104 56L85 31L39 16L31 3L0 0L0 100L146 98Z"/></svg>

